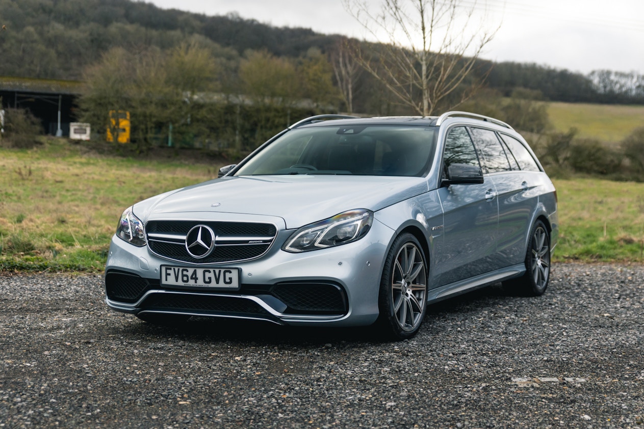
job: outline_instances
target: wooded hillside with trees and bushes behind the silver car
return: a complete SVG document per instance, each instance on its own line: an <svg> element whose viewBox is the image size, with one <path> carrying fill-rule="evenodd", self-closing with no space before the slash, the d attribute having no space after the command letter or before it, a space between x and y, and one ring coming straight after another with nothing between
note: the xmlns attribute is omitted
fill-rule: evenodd
<svg viewBox="0 0 644 429"><path fill-rule="evenodd" d="M118 128L108 111L128 112L128 151L202 148L237 160L312 114L415 114L351 63L363 42L341 35L130 0L0 0L0 25L0 76L82 80L78 119L104 141L103 130ZM366 46L375 58L382 47ZM644 76L479 59L463 91L481 80L458 108L524 132L550 174L644 181L644 127L616 144L583 139L554 131L545 103L644 104ZM458 93L437 111L458 105ZM3 145L33 145L38 121L17 109L5 116Z"/></svg>

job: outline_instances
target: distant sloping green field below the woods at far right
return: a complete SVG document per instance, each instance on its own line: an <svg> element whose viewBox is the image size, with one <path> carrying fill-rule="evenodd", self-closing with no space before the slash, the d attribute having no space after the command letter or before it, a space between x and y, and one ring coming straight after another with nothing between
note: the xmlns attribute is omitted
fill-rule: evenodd
<svg viewBox="0 0 644 429"><path fill-rule="evenodd" d="M644 105L552 102L548 114L557 131L575 127L580 137L609 143L617 143L637 127L644 127Z"/></svg>

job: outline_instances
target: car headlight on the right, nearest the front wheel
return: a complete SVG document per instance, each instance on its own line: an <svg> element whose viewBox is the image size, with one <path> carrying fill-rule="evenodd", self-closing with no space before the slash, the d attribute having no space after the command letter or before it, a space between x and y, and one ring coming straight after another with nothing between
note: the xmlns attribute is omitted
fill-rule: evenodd
<svg viewBox="0 0 644 429"><path fill-rule="evenodd" d="M354 242L365 237L373 221L371 210L350 210L299 228L282 249L299 253Z"/></svg>

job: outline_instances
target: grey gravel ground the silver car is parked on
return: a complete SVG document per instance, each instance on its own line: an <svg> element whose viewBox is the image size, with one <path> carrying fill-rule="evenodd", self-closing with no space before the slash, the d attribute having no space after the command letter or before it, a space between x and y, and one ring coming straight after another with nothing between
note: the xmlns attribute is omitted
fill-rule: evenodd
<svg viewBox="0 0 644 429"><path fill-rule="evenodd" d="M0 427L644 428L644 266L558 264L543 297L365 329L109 311L102 277L0 276Z"/></svg>

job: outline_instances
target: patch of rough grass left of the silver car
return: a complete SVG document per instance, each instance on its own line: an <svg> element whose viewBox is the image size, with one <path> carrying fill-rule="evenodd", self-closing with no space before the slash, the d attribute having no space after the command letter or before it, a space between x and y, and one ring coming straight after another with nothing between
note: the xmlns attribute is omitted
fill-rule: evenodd
<svg viewBox="0 0 644 429"><path fill-rule="evenodd" d="M104 157L65 140L0 148L0 271L100 271L126 207L218 167Z"/></svg>

